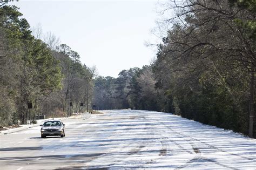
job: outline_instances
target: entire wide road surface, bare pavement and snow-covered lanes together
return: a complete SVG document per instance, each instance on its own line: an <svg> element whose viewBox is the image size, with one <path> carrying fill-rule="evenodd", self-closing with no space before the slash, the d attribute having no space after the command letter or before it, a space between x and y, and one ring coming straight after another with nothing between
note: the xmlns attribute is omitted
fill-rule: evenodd
<svg viewBox="0 0 256 170"><path fill-rule="evenodd" d="M0 136L0 169L256 169L256 140L169 113L104 111Z"/></svg>

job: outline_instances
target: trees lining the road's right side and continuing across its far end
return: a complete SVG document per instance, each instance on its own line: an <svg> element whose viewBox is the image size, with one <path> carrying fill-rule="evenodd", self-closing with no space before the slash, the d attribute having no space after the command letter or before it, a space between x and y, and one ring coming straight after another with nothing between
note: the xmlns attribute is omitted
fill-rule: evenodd
<svg viewBox="0 0 256 170"><path fill-rule="evenodd" d="M175 113L252 137L255 1L172 1L165 8L176 13L162 23L172 28L155 62L97 78L93 103Z"/></svg>

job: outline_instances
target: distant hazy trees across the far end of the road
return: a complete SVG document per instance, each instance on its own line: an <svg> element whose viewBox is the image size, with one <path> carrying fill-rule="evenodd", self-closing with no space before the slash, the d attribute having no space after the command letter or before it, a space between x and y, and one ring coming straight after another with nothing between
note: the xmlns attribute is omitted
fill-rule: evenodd
<svg viewBox="0 0 256 170"><path fill-rule="evenodd" d="M131 108L173 112L172 98L156 89L151 66L123 70L118 78L97 77L92 103L98 110Z"/></svg>

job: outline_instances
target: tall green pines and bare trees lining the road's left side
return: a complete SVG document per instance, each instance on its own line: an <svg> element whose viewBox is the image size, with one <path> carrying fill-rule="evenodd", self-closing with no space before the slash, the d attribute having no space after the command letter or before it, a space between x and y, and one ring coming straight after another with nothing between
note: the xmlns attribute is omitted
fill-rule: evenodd
<svg viewBox="0 0 256 170"><path fill-rule="evenodd" d="M91 92L93 70L68 45L53 47L35 38L18 8L5 3L0 3L0 126L26 124L38 114L82 112L80 103L87 97L91 102L86 85Z"/></svg>

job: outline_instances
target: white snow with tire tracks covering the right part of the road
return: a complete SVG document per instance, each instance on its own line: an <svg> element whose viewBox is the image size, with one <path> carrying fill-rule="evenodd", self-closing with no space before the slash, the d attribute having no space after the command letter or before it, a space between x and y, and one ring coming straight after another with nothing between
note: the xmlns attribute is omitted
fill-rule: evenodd
<svg viewBox="0 0 256 170"><path fill-rule="evenodd" d="M88 167L255 169L256 140L168 113L105 111L106 154ZM122 117L118 119L118 117ZM109 135L108 135L109 133ZM109 139L106 137L109 136Z"/></svg>

